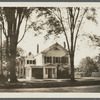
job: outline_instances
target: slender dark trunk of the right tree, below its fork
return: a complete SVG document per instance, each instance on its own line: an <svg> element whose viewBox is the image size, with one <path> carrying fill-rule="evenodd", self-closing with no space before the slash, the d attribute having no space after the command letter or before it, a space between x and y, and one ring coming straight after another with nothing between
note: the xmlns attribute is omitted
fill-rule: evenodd
<svg viewBox="0 0 100 100"><path fill-rule="evenodd" d="M75 81L74 77L74 54L70 54L71 81Z"/></svg>

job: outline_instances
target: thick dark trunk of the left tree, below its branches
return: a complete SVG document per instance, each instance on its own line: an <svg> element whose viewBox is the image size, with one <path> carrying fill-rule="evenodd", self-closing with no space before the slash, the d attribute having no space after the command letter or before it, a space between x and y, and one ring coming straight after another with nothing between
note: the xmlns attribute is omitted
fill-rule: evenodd
<svg viewBox="0 0 100 100"><path fill-rule="evenodd" d="M10 82L17 82L16 77L16 38L12 38L10 41Z"/></svg>

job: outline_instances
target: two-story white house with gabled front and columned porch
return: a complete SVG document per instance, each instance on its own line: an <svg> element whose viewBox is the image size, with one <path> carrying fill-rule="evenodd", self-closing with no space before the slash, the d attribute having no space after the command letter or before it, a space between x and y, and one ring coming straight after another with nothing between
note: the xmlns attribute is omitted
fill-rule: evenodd
<svg viewBox="0 0 100 100"><path fill-rule="evenodd" d="M68 51L55 43L37 55L29 55L25 58L25 77L27 79L58 78L58 66L69 67L69 62Z"/></svg>

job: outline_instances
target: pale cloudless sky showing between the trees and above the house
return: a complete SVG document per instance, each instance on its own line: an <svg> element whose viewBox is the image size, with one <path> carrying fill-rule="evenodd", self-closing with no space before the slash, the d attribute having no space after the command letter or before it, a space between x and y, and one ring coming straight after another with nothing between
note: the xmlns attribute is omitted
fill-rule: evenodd
<svg viewBox="0 0 100 100"><path fill-rule="evenodd" d="M32 18L35 19L35 14L32 14ZM88 20L85 21L85 24L83 24L82 29L79 31L84 32L86 34L97 34L100 36L100 10L97 10L97 21L98 24L95 24L93 22L90 22ZM25 23L23 22L21 30L20 30L20 36L22 36L23 33L23 27ZM48 48L52 44L58 42L60 45L63 46L63 42L65 42L65 37L64 35L60 35L60 38L54 39L54 36L51 36L50 39L45 41L44 39L44 34L45 32L42 33L41 35L34 36L34 31L29 30L26 32L24 39L18 44L19 47L21 47L25 51L25 55L28 54L28 52L32 52L34 55L36 54L37 51L37 44L39 44L39 52L43 51L44 49ZM4 36L3 36L4 39ZM98 55L100 50L94 47L90 47L88 45L88 39L83 39L81 40L78 38L77 45L78 48L76 49L75 52L75 65L77 66L79 62L82 60L82 58L85 58L87 56L90 57L95 57Z"/></svg>

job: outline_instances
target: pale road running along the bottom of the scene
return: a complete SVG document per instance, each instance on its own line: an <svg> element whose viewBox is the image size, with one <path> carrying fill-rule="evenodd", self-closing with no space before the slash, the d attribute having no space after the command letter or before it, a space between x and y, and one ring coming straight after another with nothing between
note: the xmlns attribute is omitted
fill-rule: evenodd
<svg viewBox="0 0 100 100"><path fill-rule="evenodd" d="M100 85L74 86L74 87L53 87L53 88L19 88L0 89L0 92L75 92L75 93L100 93Z"/></svg>

